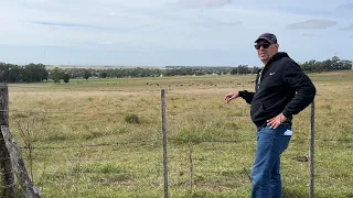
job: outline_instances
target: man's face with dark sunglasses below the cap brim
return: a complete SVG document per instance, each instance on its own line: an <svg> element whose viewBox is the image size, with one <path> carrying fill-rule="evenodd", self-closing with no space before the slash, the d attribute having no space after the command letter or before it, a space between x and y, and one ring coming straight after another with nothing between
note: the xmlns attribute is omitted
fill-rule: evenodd
<svg viewBox="0 0 353 198"><path fill-rule="evenodd" d="M277 52L278 44L270 44L266 40L260 40L256 43L257 56L261 62L268 62Z"/></svg>

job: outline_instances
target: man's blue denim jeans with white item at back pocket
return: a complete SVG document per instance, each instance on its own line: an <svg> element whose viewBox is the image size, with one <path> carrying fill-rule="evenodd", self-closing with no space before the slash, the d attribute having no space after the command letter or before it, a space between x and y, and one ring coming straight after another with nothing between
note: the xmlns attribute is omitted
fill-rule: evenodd
<svg viewBox="0 0 353 198"><path fill-rule="evenodd" d="M252 170L252 198L281 198L280 154L288 147L290 125L265 127L257 132L257 148Z"/></svg>

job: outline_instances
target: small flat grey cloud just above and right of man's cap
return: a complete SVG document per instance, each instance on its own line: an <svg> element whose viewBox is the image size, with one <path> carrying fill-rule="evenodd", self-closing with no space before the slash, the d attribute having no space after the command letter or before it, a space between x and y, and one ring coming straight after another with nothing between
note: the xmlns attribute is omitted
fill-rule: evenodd
<svg viewBox="0 0 353 198"><path fill-rule="evenodd" d="M299 23L290 23L286 25L286 29L290 30L319 30L319 29L327 29L330 26L338 25L339 23L332 20L324 20L324 19L313 19L307 20Z"/></svg>

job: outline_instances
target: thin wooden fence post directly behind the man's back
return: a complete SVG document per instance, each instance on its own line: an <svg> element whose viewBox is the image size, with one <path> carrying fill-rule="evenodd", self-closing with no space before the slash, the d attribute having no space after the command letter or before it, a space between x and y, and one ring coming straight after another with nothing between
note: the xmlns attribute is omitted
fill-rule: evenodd
<svg viewBox="0 0 353 198"><path fill-rule="evenodd" d="M313 190L313 177L314 177L314 101L312 101L310 107L310 146L309 146L309 170L310 170L310 179L309 179L309 198L314 198L314 190Z"/></svg>

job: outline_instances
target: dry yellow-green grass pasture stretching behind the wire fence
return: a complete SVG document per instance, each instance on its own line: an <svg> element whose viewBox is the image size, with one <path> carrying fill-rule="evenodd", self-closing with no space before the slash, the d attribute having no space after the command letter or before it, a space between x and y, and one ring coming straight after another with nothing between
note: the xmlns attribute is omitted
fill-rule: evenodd
<svg viewBox="0 0 353 198"><path fill-rule="evenodd" d="M315 195L353 197L353 72L310 74L315 98ZM161 89L169 195L249 197L255 127L235 90L255 76L72 79L10 84L10 131L43 197L163 197ZM135 122L131 119L135 118ZM309 108L281 157L287 198L308 197ZM21 132L22 131L22 132ZM26 134L24 135L22 134ZM192 170L191 170L192 167ZM191 174L192 173L192 174Z"/></svg>

